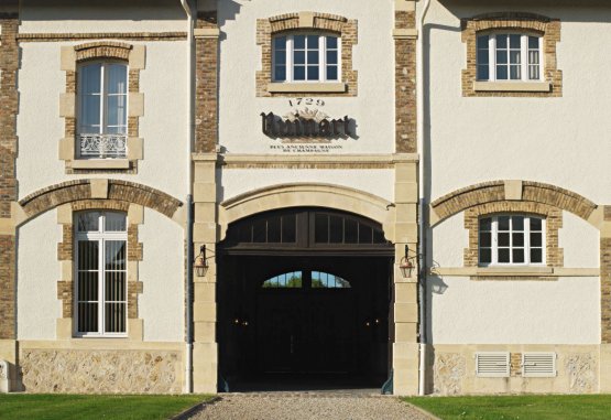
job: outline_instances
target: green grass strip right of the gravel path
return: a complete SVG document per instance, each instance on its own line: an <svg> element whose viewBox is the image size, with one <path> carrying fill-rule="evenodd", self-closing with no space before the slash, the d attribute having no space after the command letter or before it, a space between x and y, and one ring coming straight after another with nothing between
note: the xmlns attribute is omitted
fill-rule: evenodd
<svg viewBox="0 0 611 420"><path fill-rule="evenodd" d="M611 395L403 398L443 420L607 420Z"/></svg>

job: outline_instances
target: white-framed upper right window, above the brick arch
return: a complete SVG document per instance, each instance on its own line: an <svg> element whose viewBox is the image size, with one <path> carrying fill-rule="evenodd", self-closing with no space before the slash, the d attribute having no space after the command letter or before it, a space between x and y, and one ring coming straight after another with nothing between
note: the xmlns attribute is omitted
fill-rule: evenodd
<svg viewBox="0 0 611 420"><path fill-rule="evenodd" d="M477 79L480 82L541 82L542 36L527 33L487 33L477 39Z"/></svg>

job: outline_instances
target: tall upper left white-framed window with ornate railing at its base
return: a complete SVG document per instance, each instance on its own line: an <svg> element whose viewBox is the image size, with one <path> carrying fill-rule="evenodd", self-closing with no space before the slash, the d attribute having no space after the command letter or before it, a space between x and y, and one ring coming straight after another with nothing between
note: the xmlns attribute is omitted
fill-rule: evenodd
<svg viewBox="0 0 611 420"><path fill-rule="evenodd" d="M78 67L77 157L127 157L128 66L89 62Z"/></svg>

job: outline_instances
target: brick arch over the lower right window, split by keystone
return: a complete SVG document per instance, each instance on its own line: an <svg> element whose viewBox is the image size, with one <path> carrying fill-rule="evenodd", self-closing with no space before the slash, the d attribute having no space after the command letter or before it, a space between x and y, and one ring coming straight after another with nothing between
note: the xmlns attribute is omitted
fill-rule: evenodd
<svg viewBox="0 0 611 420"><path fill-rule="evenodd" d="M521 181L521 198L510 196L506 192L509 181L489 181L456 190L430 204L438 222L468 208L494 202L517 201L546 204L581 217L591 216L597 205L586 197L552 184L533 181Z"/></svg>

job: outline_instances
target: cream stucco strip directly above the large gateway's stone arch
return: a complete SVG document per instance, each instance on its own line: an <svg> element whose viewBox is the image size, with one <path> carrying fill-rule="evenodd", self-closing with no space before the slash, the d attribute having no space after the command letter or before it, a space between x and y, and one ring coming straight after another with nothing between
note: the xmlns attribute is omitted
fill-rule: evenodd
<svg viewBox="0 0 611 420"><path fill-rule="evenodd" d="M393 201L393 170L231 169L220 172L221 201L270 185L294 182L348 186Z"/></svg>

